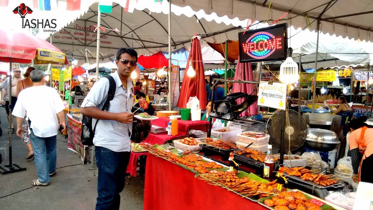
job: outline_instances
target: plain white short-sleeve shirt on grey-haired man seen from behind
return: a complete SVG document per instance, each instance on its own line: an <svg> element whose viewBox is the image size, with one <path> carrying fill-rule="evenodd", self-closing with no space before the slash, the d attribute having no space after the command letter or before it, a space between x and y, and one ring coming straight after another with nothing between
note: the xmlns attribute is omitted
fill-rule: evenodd
<svg viewBox="0 0 373 210"><path fill-rule="evenodd" d="M19 92L12 114L24 118L27 112L34 134L46 138L57 135L57 113L64 108L64 103L55 89L33 86Z"/></svg>

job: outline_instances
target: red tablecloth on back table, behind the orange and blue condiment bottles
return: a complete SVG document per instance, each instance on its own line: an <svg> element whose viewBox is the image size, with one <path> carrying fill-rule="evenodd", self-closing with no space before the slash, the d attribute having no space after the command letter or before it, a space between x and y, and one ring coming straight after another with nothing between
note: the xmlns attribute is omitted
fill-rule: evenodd
<svg viewBox="0 0 373 210"><path fill-rule="evenodd" d="M167 123L169 122L170 122L170 118L159 117L158 119L152 121L152 125L155 125L158 127L167 127ZM208 121L177 120L179 132L185 132L186 135L187 135L188 129L202 130L204 132L207 132L208 123L209 123Z"/></svg>

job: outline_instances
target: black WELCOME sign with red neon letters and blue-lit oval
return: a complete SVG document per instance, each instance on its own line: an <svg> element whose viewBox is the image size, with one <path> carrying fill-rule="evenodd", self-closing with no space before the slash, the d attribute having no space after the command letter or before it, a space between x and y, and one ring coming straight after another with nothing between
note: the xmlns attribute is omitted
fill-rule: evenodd
<svg viewBox="0 0 373 210"><path fill-rule="evenodd" d="M239 33L240 62L281 60L286 58L287 24Z"/></svg>

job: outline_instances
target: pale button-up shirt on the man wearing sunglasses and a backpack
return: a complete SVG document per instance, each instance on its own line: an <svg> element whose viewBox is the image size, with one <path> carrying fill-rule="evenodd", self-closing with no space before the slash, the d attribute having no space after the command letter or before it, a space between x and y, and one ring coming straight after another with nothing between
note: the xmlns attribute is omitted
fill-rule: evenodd
<svg viewBox="0 0 373 210"><path fill-rule="evenodd" d="M112 73L111 76L114 78L117 88L113 100L110 101L108 112L131 113L133 105L132 98L134 95L132 79L127 79L126 89L123 87L117 71ZM85 97L81 107L94 106L102 109L102 106L107 98L109 86L110 84L108 79L101 78L97 80L89 91L88 95ZM94 126L95 123L96 120L93 119L92 126ZM99 120L96 126L93 144L95 146L105 147L114 152L129 152L131 151L131 132L132 123L126 124L113 120Z"/></svg>

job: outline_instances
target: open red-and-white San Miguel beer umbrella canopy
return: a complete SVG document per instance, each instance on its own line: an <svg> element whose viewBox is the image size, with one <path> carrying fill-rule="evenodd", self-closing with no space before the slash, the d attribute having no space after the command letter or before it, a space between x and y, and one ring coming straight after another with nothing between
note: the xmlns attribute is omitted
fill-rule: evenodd
<svg viewBox="0 0 373 210"><path fill-rule="evenodd" d="M22 32L0 29L0 62L68 64L65 53L44 39Z"/></svg>

